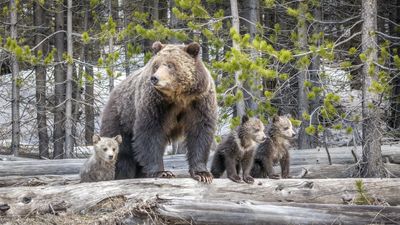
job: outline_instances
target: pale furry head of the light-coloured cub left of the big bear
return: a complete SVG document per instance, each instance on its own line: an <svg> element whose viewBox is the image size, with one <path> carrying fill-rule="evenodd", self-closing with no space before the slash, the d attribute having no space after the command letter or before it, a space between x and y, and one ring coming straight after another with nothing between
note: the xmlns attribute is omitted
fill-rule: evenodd
<svg viewBox="0 0 400 225"><path fill-rule="evenodd" d="M105 162L114 162L117 159L119 144L122 143L121 135L114 138L93 136L93 146L98 158Z"/></svg>

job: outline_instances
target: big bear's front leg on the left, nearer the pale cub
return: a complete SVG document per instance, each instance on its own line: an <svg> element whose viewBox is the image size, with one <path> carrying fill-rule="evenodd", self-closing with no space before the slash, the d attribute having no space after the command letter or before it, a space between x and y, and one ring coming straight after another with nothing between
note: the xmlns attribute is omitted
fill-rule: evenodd
<svg viewBox="0 0 400 225"><path fill-rule="evenodd" d="M141 118L136 122L132 149L140 166L139 177L175 177L172 172L164 170L163 156L167 138L160 131L161 125L154 119Z"/></svg>

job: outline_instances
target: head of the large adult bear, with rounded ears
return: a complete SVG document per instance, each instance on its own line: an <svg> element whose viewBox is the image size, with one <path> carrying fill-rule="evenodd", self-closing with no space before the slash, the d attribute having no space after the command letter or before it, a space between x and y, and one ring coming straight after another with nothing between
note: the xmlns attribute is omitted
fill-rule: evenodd
<svg viewBox="0 0 400 225"><path fill-rule="evenodd" d="M153 44L155 56L150 62L150 84L160 92L173 96L189 92L198 83L196 77L196 57L200 45Z"/></svg>

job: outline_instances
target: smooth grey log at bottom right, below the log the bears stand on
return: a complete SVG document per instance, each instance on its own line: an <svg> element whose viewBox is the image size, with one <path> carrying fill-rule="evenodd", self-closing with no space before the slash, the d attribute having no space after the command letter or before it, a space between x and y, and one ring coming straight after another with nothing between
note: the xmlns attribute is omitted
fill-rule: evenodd
<svg viewBox="0 0 400 225"><path fill-rule="evenodd" d="M153 213L170 224L393 224L399 207L158 200Z"/></svg>

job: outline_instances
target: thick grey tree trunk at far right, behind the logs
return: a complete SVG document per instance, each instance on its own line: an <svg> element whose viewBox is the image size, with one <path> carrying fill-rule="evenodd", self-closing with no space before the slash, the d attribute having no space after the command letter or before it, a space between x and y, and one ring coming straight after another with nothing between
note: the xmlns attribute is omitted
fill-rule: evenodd
<svg viewBox="0 0 400 225"><path fill-rule="evenodd" d="M380 99L378 93L369 90L373 82L379 82L374 65L374 62L377 61L376 0L362 1L361 16L364 21L362 25L362 51L367 58L362 68L363 163L361 164L361 175L363 177L384 177L386 173L381 153L382 121L377 105Z"/></svg>

